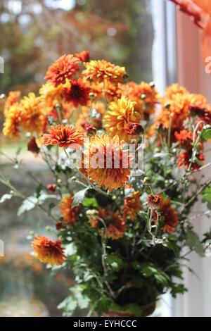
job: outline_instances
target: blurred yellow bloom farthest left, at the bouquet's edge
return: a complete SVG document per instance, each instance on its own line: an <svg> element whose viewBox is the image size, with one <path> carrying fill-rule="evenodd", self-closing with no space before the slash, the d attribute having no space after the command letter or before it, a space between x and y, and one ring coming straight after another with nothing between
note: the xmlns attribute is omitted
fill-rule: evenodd
<svg viewBox="0 0 211 331"><path fill-rule="evenodd" d="M18 103L13 104L7 114L6 114L6 120L4 122L4 128L3 128L3 134L5 136L13 138L19 138L20 137L20 130L19 127L22 123L23 118L23 111L22 108Z"/></svg>

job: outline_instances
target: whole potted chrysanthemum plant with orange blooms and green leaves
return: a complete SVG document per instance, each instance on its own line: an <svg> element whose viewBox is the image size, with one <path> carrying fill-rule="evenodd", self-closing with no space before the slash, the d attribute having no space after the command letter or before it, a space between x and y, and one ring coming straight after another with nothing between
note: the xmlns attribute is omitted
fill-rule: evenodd
<svg viewBox="0 0 211 331"><path fill-rule="evenodd" d="M211 232L199 239L190 212L199 196L210 202L211 180L197 175L210 165L203 144L211 106L177 84L160 96L153 83L130 82L125 68L90 60L88 51L58 58L45 79L38 96L8 94L3 133L25 132L52 182L34 177L18 149L11 161L36 191L25 196L1 173L9 188L1 203L18 196L18 215L37 207L52 221L34 233L32 248L53 273L75 273L60 304L65 316L77 306L89 306L89 316L148 316L165 292L186 291L188 254L209 250Z"/></svg>

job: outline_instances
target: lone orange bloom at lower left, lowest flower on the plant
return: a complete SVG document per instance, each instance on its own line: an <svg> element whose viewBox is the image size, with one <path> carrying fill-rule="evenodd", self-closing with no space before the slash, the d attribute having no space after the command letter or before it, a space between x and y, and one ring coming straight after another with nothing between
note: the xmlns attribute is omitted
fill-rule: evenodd
<svg viewBox="0 0 211 331"><path fill-rule="evenodd" d="M60 266L65 261L65 254L61 247L61 241L51 242L44 236L35 237L32 247L36 258L43 263L50 263L51 266Z"/></svg>

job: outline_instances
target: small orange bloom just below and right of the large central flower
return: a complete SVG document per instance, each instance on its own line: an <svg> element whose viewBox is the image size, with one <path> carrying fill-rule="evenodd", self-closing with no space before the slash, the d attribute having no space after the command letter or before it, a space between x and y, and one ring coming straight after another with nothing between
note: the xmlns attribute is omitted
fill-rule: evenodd
<svg viewBox="0 0 211 331"><path fill-rule="evenodd" d="M124 207L122 209L124 220L127 220L129 217L131 220L136 219L136 214L141 211L141 201L140 201L141 192L133 192L132 196L127 196L124 199Z"/></svg>

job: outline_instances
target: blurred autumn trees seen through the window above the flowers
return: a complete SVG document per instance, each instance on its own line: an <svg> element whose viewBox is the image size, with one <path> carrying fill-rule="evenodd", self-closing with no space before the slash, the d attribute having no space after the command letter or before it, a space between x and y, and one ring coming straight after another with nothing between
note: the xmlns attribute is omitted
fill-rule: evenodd
<svg viewBox="0 0 211 331"><path fill-rule="evenodd" d="M52 61L82 49L151 80L150 10L146 0L1 0L1 93L36 91Z"/></svg>

